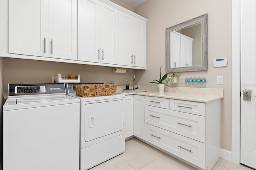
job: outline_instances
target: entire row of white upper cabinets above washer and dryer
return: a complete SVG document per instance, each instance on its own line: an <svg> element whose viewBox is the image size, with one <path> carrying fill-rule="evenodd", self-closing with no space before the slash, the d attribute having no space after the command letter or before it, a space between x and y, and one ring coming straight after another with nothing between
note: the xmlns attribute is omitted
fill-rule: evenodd
<svg viewBox="0 0 256 170"><path fill-rule="evenodd" d="M146 69L147 19L109 0L5 1L2 57Z"/></svg>

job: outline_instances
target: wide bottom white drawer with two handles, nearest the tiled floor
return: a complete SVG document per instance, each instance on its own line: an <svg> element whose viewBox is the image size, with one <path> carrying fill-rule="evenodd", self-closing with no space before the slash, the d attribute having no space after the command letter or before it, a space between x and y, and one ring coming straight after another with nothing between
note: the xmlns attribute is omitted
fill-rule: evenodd
<svg viewBox="0 0 256 170"><path fill-rule="evenodd" d="M205 144L145 123L146 141L205 169Z"/></svg>

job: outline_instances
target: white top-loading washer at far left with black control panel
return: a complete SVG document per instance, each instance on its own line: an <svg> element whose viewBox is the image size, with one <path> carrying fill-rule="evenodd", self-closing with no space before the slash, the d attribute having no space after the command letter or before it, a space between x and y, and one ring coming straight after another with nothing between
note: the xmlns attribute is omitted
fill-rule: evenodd
<svg viewBox="0 0 256 170"><path fill-rule="evenodd" d="M4 170L78 170L80 101L64 84L9 84Z"/></svg>

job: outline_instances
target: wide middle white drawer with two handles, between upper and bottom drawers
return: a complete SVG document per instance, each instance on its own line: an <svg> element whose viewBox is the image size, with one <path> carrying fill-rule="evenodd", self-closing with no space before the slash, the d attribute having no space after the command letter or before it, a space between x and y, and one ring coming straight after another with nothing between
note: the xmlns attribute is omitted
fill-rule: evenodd
<svg viewBox="0 0 256 170"><path fill-rule="evenodd" d="M205 142L205 117L203 116L146 106L145 122Z"/></svg>

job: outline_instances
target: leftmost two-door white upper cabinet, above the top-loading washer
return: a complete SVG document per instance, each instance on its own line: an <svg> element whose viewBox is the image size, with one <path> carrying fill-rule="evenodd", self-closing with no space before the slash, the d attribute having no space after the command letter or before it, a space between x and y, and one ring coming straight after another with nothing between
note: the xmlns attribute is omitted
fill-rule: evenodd
<svg viewBox="0 0 256 170"><path fill-rule="evenodd" d="M77 1L10 0L9 52L77 60Z"/></svg>

